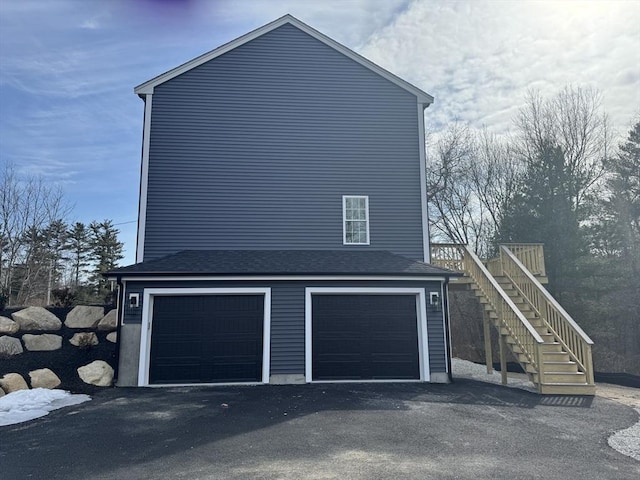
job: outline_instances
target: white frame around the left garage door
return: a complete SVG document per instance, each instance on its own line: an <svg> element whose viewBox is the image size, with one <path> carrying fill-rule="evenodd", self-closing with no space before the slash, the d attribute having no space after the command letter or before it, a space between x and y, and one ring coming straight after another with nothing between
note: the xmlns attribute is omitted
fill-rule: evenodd
<svg viewBox="0 0 640 480"><path fill-rule="evenodd" d="M138 364L138 386L156 387L163 385L149 384L149 366L151 360L151 333L153 331L153 299L156 296L189 296L189 295L264 295L264 323L262 329L262 383L269 383L269 367L271 352L271 289L270 288L145 288L142 302L142 333L140 335L140 361ZM253 382L242 382L243 385ZM167 384L208 385L197 384ZM229 383L212 383L211 385L230 385Z"/></svg>

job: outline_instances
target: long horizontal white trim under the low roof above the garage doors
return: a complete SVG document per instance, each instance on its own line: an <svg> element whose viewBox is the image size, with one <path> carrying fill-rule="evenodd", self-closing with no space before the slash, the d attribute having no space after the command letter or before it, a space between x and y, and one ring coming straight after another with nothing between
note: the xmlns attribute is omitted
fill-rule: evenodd
<svg viewBox="0 0 640 480"><path fill-rule="evenodd" d="M115 277L114 277L115 278ZM388 276L388 277L376 277L376 276L322 276L322 275L310 275L310 276L295 276L295 275L286 275L286 276L212 276L212 275L202 275L202 276L158 276L158 277L127 277L127 282L206 282L206 281L266 281L266 282L274 282L274 281L327 281L327 282L341 282L341 281L407 281L407 282L444 282L445 277L431 277L431 276L411 276L411 277L402 277L402 276ZM123 279L124 281L124 279Z"/></svg>

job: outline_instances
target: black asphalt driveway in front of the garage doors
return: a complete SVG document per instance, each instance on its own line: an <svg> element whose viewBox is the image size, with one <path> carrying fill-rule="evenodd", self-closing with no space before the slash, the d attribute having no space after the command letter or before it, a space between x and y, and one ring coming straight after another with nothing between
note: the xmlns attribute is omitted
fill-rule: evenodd
<svg viewBox="0 0 640 480"><path fill-rule="evenodd" d="M637 479L637 413L458 380L108 389L0 428L3 478Z"/></svg>

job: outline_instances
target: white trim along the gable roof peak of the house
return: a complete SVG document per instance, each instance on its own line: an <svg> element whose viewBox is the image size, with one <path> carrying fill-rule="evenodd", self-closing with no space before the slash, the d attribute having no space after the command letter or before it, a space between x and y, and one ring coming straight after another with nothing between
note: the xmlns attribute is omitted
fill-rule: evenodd
<svg viewBox="0 0 640 480"><path fill-rule="evenodd" d="M203 55L200 55L199 57L194 58L193 60L190 60L186 63L183 63L182 65L169 70L168 72L165 72L161 75L158 75L157 77L152 78L151 80L148 80L140 85L138 85L135 89L134 92L137 93L140 96L143 96L145 94L151 94L153 93L153 89L164 83L167 82L169 80L171 80L172 78L177 77L178 75L182 75L185 72L188 72L189 70L191 70L192 68L195 68L199 65L202 65L203 63L208 62L209 60L213 60L216 57L219 57L220 55L223 55L227 52L229 52L230 50L233 50L234 48L237 48L241 45L244 45L247 42L250 42L251 40L258 38L272 30L275 30L276 28L281 27L282 25L285 24L290 24L293 25L294 27L302 30L303 32L307 33L308 35L312 36L313 38L315 38L316 40L319 40L320 42L324 43L325 45L328 45L329 47L333 48L334 50L337 50L338 52L342 53L343 55L349 57L351 60L359 63L360 65L368 68L369 70L371 70L374 73L377 73L378 75L386 78L387 80L389 80L390 82L398 85L399 87L403 88L404 90L408 91L409 93L415 95L418 98L418 103L423 104L425 107L429 106L431 103L433 103L433 97L431 95L429 95L428 93L424 92L423 90L420 90L418 87L415 87L413 85L411 85L409 82L401 79L400 77L394 75L393 73L389 72L388 70L385 70L384 68L376 65L375 63L373 63L370 60L367 60L366 58L364 58L362 55L357 54L356 52L354 52L353 50L345 47L344 45L336 42L335 40L327 37L326 35L320 33L319 31L311 28L309 25L307 25L306 23L301 22L300 20L298 20L297 18L293 17L292 15L285 15L283 17L280 17L277 20L274 20L271 23L268 23L260 28L257 28L256 30L253 30L241 37L236 38L235 40L232 40L229 43L225 43L224 45L211 50L210 52L207 52Z"/></svg>

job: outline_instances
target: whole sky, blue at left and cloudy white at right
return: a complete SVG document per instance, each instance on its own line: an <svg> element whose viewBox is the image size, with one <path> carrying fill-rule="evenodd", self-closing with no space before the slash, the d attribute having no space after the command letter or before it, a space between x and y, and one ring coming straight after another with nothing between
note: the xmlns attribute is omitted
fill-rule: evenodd
<svg viewBox="0 0 640 480"><path fill-rule="evenodd" d="M530 90L640 116L640 0L0 0L0 166L111 219L135 259L143 102L133 88L292 14L435 97L426 125L503 134Z"/></svg>

